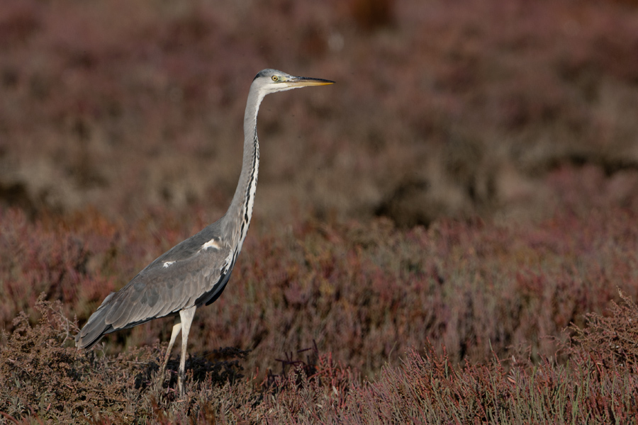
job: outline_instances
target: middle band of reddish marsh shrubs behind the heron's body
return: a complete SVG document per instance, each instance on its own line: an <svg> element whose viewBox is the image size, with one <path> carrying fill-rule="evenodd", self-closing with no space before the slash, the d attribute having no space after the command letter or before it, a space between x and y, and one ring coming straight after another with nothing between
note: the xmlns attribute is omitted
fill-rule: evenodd
<svg viewBox="0 0 638 425"><path fill-rule="evenodd" d="M573 174L569 185L582 179ZM569 196L563 211L527 225L440 220L406 230L388 220L307 219L249 236L223 297L198 310L191 341L200 351L252 350L246 367L260 377L276 368L272 353L314 343L364 375L428 340L438 353L446 346L454 363L493 352L505 358L520 345L532 358L547 356L561 331L602 312L615 288L637 295L634 210L582 208ZM95 211L38 222L18 210L0 216L0 311L9 330L19 312L35 318L40 292L83 323L108 293L201 225L170 214L138 223ZM104 341L119 353L169 334L163 319Z"/></svg>

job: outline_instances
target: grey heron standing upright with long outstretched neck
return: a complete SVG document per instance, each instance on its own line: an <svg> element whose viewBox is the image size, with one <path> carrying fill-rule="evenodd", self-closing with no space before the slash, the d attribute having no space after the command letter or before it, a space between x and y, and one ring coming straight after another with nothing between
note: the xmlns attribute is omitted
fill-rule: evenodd
<svg viewBox="0 0 638 425"><path fill-rule="evenodd" d="M186 344L195 310L217 300L226 287L250 225L259 169L259 105L264 96L276 91L332 83L293 77L276 69L264 69L254 77L244 115L242 171L228 211L212 225L157 257L121 290L109 294L75 337L79 348L90 348L105 334L120 329L176 316L159 377L163 380L171 349L181 331L177 386L184 397Z"/></svg>

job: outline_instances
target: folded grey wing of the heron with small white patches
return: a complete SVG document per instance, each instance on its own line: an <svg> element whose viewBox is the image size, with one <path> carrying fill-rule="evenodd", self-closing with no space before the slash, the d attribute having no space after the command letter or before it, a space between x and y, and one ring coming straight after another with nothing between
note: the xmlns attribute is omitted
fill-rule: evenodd
<svg viewBox="0 0 638 425"><path fill-rule="evenodd" d="M159 256L117 293L111 293L76 336L90 347L103 334L177 314L216 298L236 256L212 226Z"/></svg>

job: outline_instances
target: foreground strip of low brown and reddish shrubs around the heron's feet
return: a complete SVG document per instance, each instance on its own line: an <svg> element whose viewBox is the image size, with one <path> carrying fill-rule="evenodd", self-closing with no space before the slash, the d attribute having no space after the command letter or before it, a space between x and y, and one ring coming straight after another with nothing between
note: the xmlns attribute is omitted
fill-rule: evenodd
<svg viewBox="0 0 638 425"><path fill-rule="evenodd" d="M580 344L561 347L570 352L564 364L554 357L493 356L459 367L427 345L361 380L315 347L286 356L281 374L257 385L240 374L246 353L228 349L217 363L206 355L189 358L188 391L176 399L174 379L168 387L155 382L159 347L118 356L79 353L67 344L77 327L60 313L60 302L40 298L40 322L31 327L17 317L13 334L3 336L0 412L14 423L66 424L627 424L638 415L637 364L605 361L610 330L627 329L638 317L634 302L622 300L612 307L622 314L593 315L588 327L576 329ZM635 349L634 341L625 344Z"/></svg>

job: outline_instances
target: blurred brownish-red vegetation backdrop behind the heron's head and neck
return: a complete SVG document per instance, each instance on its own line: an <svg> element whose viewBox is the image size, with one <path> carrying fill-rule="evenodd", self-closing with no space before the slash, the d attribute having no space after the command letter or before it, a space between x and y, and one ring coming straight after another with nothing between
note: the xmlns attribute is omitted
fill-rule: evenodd
<svg viewBox="0 0 638 425"><path fill-rule="evenodd" d="M255 227L538 219L548 176L638 188L632 1L23 1L0 12L0 202L138 219L225 212L265 67Z"/></svg>

